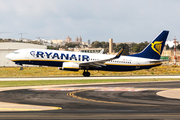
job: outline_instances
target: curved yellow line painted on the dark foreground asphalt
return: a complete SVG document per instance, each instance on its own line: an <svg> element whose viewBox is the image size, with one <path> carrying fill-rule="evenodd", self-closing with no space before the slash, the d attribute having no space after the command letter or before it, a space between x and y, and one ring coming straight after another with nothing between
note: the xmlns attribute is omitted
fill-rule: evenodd
<svg viewBox="0 0 180 120"><path fill-rule="evenodd" d="M89 90L94 90L94 89L89 89ZM88 91L86 90L79 90L79 91L73 91L67 93L67 96L70 96L72 98L80 99L80 100L85 100L85 101L91 101L91 102L100 102L100 103L110 103L110 104L123 104L123 105L139 105L139 106L160 106L160 105L147 105L147 104L133 104L133 103L124 103L124 102L109 102L109 101L103 101L103 100L94 100L94 99L88 99L88 98L83 98L76 96L76 93L83 92L83 91Z"/></svg>

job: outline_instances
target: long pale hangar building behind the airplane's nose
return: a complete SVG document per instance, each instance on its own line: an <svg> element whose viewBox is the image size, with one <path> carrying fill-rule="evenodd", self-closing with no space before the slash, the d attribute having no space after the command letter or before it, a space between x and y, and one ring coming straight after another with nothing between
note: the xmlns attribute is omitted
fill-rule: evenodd
<svg viewBox="0 0 180 120"><path fill-rule="evenodd" d="M0 43L0 67L18 66L14 62L5 58L5 56L9 53L12 53L15 50L24 49L24 48L46 49L46 46L30 44L30 43L2 42Z"/></svg>

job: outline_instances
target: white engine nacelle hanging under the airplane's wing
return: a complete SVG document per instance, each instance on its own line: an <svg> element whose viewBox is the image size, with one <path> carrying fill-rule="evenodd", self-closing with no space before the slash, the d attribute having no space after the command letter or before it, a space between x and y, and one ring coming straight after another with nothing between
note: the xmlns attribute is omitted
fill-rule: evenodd
<svg viewBox="0 0 180 120"><path fill-rule="evenodd" d="M62 70L79 71L79 64L73 62L64 62Z"/></svg>

